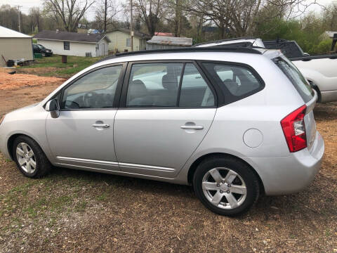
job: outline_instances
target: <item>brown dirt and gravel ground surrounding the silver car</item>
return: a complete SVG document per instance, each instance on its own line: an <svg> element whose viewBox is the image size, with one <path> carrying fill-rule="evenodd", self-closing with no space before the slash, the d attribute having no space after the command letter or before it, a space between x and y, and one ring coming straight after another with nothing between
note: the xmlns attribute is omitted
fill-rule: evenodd
<svg viewBox="0 0 337 253"><path fill-rule="evenodd" d="M1 90L0 115L59 84ZM337 252L337 103L315 117L326 145L315 181L237 218L190 186L60 168L32 180L0 154L0 252Z"/></svg>

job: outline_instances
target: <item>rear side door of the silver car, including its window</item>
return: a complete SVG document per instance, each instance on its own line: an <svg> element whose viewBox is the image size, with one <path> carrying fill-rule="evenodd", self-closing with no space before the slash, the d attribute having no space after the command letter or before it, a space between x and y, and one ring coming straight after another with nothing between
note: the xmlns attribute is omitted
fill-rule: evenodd
<svg viewBox="0 0 337 253"><path fill-rule="evenodd" d="M114 122L121 171L173 178L215 113L213 88L193 62L129 63Z"/></svg>

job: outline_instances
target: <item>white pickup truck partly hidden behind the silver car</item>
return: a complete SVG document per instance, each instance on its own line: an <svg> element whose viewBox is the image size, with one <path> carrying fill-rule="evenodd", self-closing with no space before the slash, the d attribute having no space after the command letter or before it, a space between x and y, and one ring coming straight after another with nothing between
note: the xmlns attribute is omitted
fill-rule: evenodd
<svg viewBox="0 0 337 253"><path fill-rule="evenodd" d="M280 49L298 67L312 88L317 91L318 102L337 101L337 54L309 56L308 53L302 51L296 41L285 39L262 41L262 39L254 39L253 37L211 41L195 46L253 46Z"/></svg>

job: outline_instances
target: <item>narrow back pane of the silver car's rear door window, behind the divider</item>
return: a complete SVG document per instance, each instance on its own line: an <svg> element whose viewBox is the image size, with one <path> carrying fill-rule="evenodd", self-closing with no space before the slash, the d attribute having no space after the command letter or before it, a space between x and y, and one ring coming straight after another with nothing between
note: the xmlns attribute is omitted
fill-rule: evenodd
<svg viewBox="0 0 337 253"><path fill-rule="evenodd" d="M214 96L204 78L192 63L185 65L181 84L180 107L214 106Z"/></svg>

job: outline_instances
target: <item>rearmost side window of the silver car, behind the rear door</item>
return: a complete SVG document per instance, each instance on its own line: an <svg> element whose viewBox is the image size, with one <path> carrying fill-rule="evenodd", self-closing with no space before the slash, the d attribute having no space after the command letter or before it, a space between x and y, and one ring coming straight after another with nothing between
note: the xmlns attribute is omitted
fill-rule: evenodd
<svg viewBox="0 0 337 253"><path fill-rule="evenodd" d="M227 99L229 100L227 102L233 102L263 89L263 85L246 67L218 63L204 63L203 65L213 80L218 82L223 89L225 96L230 97L228 93L232 96Z"/></svg>

